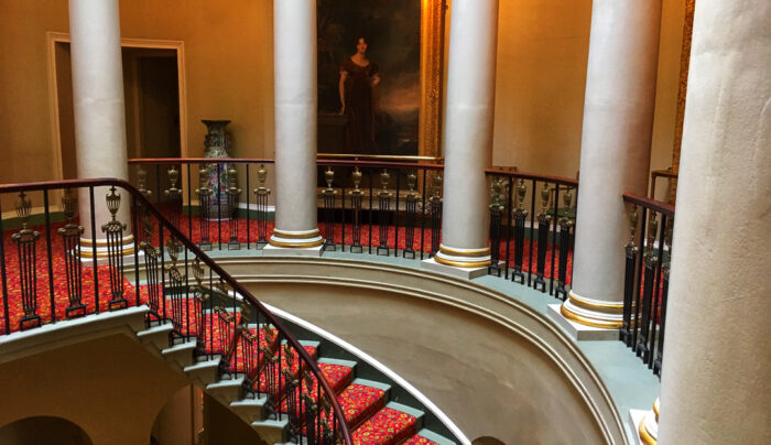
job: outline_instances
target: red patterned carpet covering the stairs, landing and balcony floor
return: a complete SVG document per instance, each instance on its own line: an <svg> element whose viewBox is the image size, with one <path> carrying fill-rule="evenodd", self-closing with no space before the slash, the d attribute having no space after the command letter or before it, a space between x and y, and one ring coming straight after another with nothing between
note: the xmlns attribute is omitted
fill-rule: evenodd
<svg viewBox="0 0 771 445"><path fill-rule="evenodd" d="M184 234L188 234L188 230L192 228L189 231L191 238L193 239L194 242L200 242L202 240L202 234L200 234L200 220L197 217L194 217L193 220L188 220L187 217L183 217L181 220L181 228ZM57 234L57 229L62 227L64 224L54 224L51 226L50 232L45 231L45 227L43 226L37 226L37 227L32 227L33 230L37 230L40 232L40 238L35 245L36 251L34 252L34 269L29 269L29 276L34 279L34 289L36 291L36 302L37 306L35 308L36 314L40 316L40 323L41 324L46 324L51 323L53 317L52 317L52 302L54 303L55 306L55 318L57 321L64 319L65 318L65 311L66 307L69 305L69 301L67 297L67 279L66 279L66 268L65 268L65 252L64 252L64 247L63 247L63 241L61 236ZM191 227L192 226L192 227ZM272 230L273 224L269 223L268 225L268 232ZM241 218L238 220L238 237L237 239L246 243L247 241L247 220ZM322 231L324 232L324 226L322 225L321 227ZM217 240L222 239L224 242L227 242L230 240L230 232L229 232L229 221L222 221L221 223L221 237L220 237L220 225L216 223L209 224L209 240L215 243ZM17 249L17 243L12 239L12 235L14 232L18 232L18 230L7 230L3 234L3 247L4 247L4 270L6 270L6 283L7 283L7 293L10 295L8 299L6 297L6 292L0 289L0 301L2 302L3 305L8 305L8 314L9 314L9 319L8 324L10 325L10 330L14 332L20 328L20 321L24 316L24 311L23 311L23 305L22 305L22 290L20 285L20 280L21 280L21 271L20 271L20 264L19 264L19 252ZM343 234L344 232L344 227L341 225L336 225L335 226L335 240L339 243L343 240ZM380 230L378 226L373 226L371 230L371 242L373 246L372 251L374 252L374 247L379 246L380 239ZM47 241L46 239L51 238L51 254L53 258L53 261L51 264L48 264L48 259L47 259ZM167 234L166 234L167 236ZM257 240L258 237L258 224L257 221L250 221L249 224L249 236L250 240L252 242L252 248L254 248L253 242ZM431 251L431 230L426 229L424 231L424 242L423 242L423 251L424 252L430 252ZM351 226L346 225L345 226L345 240L347 245L350 245L352 242L352 232L351 232ZM365 246L368 246L370 242L370 228L369 226L363 226L361 230L361 243ZM393 254L393 246L398 245L400 249L400 254L401 250L405 248L405 230L403 227L395 228L395 227L389 227L388 228L388 246L391 248L390 252ZM536 249L536 242L533 241L533 248ZM528 261L529 261L529 251L530 251L530 241L525 241L524 243L524 259L525 259L525 265L524 270L528 271L530 269ZM224 246L224 249L226 247ZM415 250L420 250L420 230L415 231L415 239L413 243L413 248ZM513 265L513 241L509 246L509 251L510 251L510 261L509 263ZM348 250L348 249L346 249ZM368 249L365 248L365 252L367 252ZM501 242L500 246L500 252L501 252L501 259L506 258L506 242ZM558 254L558 247L555 248L554 251L555 254ZM551 274L551 254L552 254L552 249L551 245L547 247L547 258L546 258L546 276L550 276ZM420 253L419 253L420 256ZM569 276L569 271L571 271L571 261L572 261L572 256L568 256L568 276ZM427 258L427 256L426 256ZM533 267L535 265L535 258L533 258ZM133 265L131 265L133 268ZM122 282L120 283L111 283L110 282L110 268L109 265L99 265L96 268L96 275L95 275L95 269L91 265L90 262L86 262L83 264L82 268L82 279L80 279L80 285L82 285L82 303L85 305L84 312L86 314L91 314L97 311L97 293L98 293L98 311L99 312L105 312L108 311L108 302L112 299L112 287L119 289L120 285L122 285L122 296L127 300L127 305L132 306L139 301L140 304L146 304L148 303L148 287L146 285L140 285L137 286L137 283L131 283L129 280L123 278L122 275L119 275L119 278L122 279ZM98 282L98 287L97 287L97 282ZM97 292L98 289L98 292ZM169 296L166 296L169 297ZM163 300L164 297L161 296L160 304L166 305L166 313L171 312L171 301L170 300ZM180 311L184 311L185 313L189 314L192 313L192 305L193 301L191 301L191 307L186 308L180 308ZM6 334L6 319L4 319L4 314L6 311L3 310L2 313L0 314L0 334ZM80 315L79 313L77 315ZM240 317L239 313L235 314L235 319L236 323L238 323L238 318ZM203 326L204 329L207 330L207 334L205 338L207 338L207 344L204 346L204 350L209 354L221 354L224 348L224 341L225 338L228 338L230 333L221 333L220 332L220 326L216 321L211 321L210 317L204 317L204 321L208 319L206 322L206 326ZM25 328L32 327L31 324L33 322L29 322L28 324L24 325ZM197 332L196 329L198 326L196 325L195 317L182 317L180 321L180 325L183 332L187 329L187 325L189 324L191 332ZM278 345L275 344L274 338L278 338L278 336L274 336L275 330L274 329L269 329L271 333L273 333L272 339L273 344L269 345L268 341L268 336L264 334L265 327L261 328L261 335L258 336L257 327L250 328L250 334L254 335L256 337L259 338L259 346L265 347L265 346L271 346L272 349L274 349ZM311 357L316 358L318 350L315 346L305 346L306 351L311 355ZM236 355L235 359L232 360L230 371L235 372L243 372L247 370L247 363L245 363L243 360L245 357L245 346L239 343L236 349ZM259 360L264 360L264 357L262 352L260 352ZM286 356L282 357L282 362L284 369L291 368L291 372L296 377L298 377L298 366L297 361L295 361L290 366L286 361ZM412 414L409 414L406 412L400 411L399 410L399 404L398 403L390 403L387 404L389 401L389 393L388 391L376 388L372 386L367 384L367 381L363 380L355 380L355 369L350 366L345 366L345 365L337 365L337 363L330 363L330 362L324 362L323 360L318 362L319 369L326 377L326 379L329 381L333 390L337 393L337 399L338 402L340 403L340 406L344 411L346 421L348 422L349 426L351 427L352 432L352 438L356 444L378 444L378 445L395 445L395 444L434 444L431 439L423 437L420 435L419 426L420 422L419 419L413 416ZM285 384L285 381L283 380L284 377L281 377L282 379L282 384ZM268 384L264 381L264 379L259 380L258 382L254 383L254 389L259 389L261 391L268 391ZM301 387L303 392L308 392L308 395L311 395L312 399L315 400L316 393L317 393L317 383L314 379L310 391L305 387ZM279 405L282 411L286 411L286 400L282 399L281 404Z"/></svg>

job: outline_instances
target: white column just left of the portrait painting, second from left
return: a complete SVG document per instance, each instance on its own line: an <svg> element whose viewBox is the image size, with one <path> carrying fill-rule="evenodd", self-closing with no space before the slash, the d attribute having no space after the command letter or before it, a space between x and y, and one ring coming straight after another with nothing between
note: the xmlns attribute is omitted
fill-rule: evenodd
<svg viewBox="0 0 771 445"><path fill-rule="evenodd" d="M316 221L316 2L273 2L275 229L265 254L319 254Z"/></svg>

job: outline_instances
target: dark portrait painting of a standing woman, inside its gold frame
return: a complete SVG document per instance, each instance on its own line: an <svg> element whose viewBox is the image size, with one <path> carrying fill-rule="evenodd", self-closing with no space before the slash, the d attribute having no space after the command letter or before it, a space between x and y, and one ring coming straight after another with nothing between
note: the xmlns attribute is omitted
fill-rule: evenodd
<svg viewBox="0 0 771 445"><path fill-rule="evenodd" d="M318 0L317 20L319 151L419 154L421 1Z"/></svg>

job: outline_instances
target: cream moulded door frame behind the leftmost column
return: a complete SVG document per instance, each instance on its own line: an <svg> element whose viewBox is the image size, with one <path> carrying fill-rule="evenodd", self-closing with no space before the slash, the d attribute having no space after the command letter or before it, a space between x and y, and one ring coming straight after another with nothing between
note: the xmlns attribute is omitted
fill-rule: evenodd
<svg viewBox="0 0 771 445"><path fill-rule="evenodd" d="M62 164L61 122L58 115L58 85L56 80L56 44L70 43L68 33L46 33L47 67L48 67L48 108L51 122L51 146L53 150L54 180L64 180L64 165ZM176 52L177 85L180 89L180 156L187 158L187 87L185 82L185 43L173 40L153 39L121 39L121 47L138 47L152 50L174 50Z"/></svg>

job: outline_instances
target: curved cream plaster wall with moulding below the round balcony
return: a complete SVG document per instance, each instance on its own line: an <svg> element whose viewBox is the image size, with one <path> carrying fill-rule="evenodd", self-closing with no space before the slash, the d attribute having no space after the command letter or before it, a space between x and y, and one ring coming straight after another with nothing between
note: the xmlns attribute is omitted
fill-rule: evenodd
<svg viewBox="0 0 771 445"><path fill-rule="evenodd" d="M218 263L261 301L376 357L467 437L626 443L607 390L573 341L510 297L457 279L358 261Z"/></svg>

